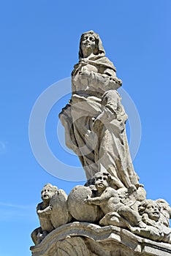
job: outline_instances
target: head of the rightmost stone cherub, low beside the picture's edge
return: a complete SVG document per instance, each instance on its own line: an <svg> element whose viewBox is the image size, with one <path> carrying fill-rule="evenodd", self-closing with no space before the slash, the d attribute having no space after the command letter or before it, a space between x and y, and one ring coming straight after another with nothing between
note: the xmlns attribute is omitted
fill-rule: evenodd
<svg viewBox="0 0 171 256"><path fill-rule="evenodd" d="M157 222L160 218L160 206L153 200L147 199L142 201L140 206L138 206L139 214L148 214L149 219L153 219Z"/></svg>

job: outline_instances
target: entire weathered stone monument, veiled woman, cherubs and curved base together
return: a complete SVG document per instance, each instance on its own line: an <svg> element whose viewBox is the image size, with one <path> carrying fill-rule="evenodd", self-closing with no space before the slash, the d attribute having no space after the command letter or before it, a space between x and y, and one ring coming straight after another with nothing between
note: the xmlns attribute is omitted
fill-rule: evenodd
<svg viewBox="0 0 171 256"><path fill-rule="evenodd" d="M82 34L72 98L59 118L66 146L88 180L68 196L52 184L43 187L40 227L31 233L33 256L171 255L171 208L164 199L146 199L139 184L117 91L121 84L99 35Z"/></svg>

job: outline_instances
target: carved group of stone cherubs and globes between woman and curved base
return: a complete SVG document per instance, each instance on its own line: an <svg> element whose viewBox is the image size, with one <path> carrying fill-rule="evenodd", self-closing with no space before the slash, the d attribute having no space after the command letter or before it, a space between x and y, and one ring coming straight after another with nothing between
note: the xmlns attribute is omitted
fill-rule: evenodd
<svg viewBox="0 0 171 256"><path fill-rule="evenodd" d="M37 206L41 226L31 234L34 244L74 219L122 227L137 236L171 244L168 203L161 199L143 200L144 196L138 192L140 187L114 189L112 183L110 173L98 172L89 187L77 186L68 197L64 190L46 184L41 192L43 201Z"/></svg>

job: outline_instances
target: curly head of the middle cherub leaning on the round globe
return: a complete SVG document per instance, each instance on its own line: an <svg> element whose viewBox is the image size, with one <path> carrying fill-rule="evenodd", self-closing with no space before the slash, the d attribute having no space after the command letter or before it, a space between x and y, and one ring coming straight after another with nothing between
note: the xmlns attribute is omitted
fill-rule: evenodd
<svg viewBox="0 0 171 256"><path fill-rule="evenodd" d="M107 172L99 172L94 175L94 184L97 190L104 190L110 186L111 176Z"/></svg>

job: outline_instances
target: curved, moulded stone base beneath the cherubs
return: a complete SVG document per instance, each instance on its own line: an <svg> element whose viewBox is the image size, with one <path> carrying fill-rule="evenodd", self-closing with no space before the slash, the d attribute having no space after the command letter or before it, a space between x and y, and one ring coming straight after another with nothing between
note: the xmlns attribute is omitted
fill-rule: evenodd
<svg viewBox="0 0 171 256"><path fill-rule="evenodd" d="M141 238L120 227L73 222L56 228L33 256L169 256L171 244Z"/></svg>

